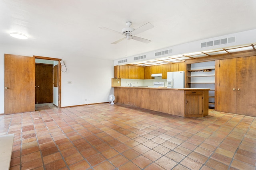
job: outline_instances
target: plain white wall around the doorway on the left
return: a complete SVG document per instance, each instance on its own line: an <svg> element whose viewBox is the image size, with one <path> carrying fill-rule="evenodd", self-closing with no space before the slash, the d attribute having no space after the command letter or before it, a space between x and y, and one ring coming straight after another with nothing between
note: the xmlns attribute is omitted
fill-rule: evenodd
<svg viewBox="0 0 256 170"><path fill-rule="evenodd" d="M70 55L65 51L48 51L35 47L15 47L0 44L0 113L4 113L5 53L62 59L68 68L67 72L62 72L62 107L109 102L109 94L114 94L114 89L111 88L111 78L114 77L114 62L111 60L94 59L93 56L81 56L79 60L74 60L75 54ZM68 81L71 81L72 84L68 84ZM88 101L86 102L85 99Z"/></svg>

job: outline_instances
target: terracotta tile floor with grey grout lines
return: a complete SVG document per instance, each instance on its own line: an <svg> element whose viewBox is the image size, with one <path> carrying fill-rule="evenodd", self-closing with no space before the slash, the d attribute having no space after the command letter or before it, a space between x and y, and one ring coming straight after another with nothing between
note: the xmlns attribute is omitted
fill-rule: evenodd
<svg viewBox="0 0 256 170"><path fill-rule="evenodd" d="M10 170L255 170L256 118L184 118L120 104L0 115Z"/></svg>

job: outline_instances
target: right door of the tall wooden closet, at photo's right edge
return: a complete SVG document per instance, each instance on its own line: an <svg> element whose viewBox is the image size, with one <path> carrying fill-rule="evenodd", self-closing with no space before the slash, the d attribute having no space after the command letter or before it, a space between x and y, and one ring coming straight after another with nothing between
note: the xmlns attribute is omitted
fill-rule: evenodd
<svg viewBox="0 0 256 170"><path fill-rule="evenodd" d="M256 56L236 63L236 113L256 116Z"/></svg>

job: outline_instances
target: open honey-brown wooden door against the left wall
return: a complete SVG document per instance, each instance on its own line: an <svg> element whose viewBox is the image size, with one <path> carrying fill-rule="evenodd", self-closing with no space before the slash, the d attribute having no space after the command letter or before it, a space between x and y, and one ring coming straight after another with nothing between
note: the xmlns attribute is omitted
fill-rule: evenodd
<svg viewBox="0 0 256 170"><path fill-rule="evenodd" d="M35 58L4 55L4 114L35 111Z"/></svg>

